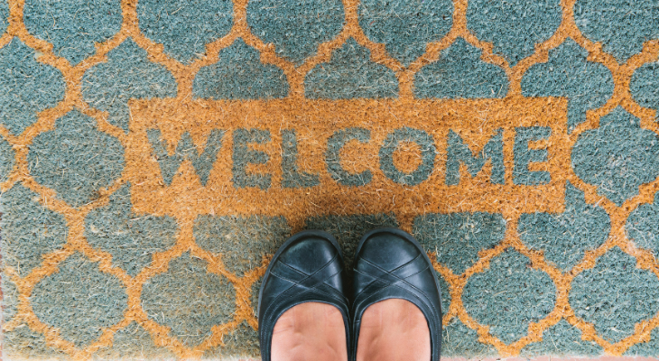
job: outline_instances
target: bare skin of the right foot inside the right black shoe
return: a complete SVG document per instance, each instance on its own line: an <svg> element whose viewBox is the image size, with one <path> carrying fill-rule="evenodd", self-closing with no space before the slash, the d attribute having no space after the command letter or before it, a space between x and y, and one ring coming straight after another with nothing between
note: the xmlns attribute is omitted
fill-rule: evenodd
<svg viewBox="0 0 659 361"><path fill-rule="evenodd" d="M390 299L368 306L359 326L357 361L429 361L428 321L410 301Z"/></svg>

